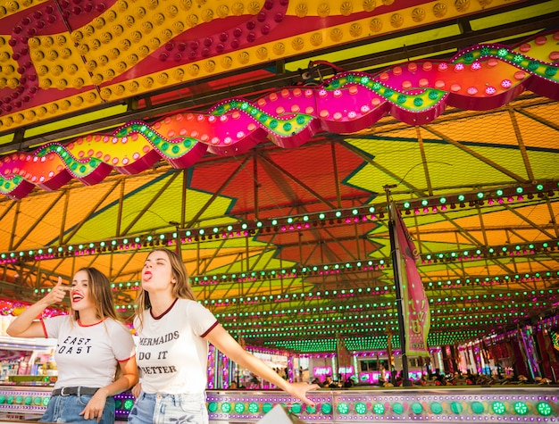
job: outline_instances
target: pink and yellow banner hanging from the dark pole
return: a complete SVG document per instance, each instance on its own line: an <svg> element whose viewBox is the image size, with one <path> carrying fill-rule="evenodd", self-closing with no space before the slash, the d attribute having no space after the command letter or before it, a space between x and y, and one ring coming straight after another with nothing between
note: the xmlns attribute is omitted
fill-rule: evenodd
<svg viewBox="0 0 559 424"><path fill-rule="evenodd" d="M392 204L390 210L395 223L396 252L399 258L398 269L405 322L405 353L410 356L429 356L427 337L430 329L430 309L417 270L419 252L396 205Z"/></svg>

